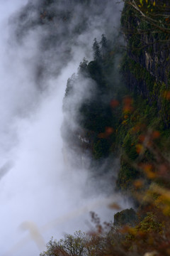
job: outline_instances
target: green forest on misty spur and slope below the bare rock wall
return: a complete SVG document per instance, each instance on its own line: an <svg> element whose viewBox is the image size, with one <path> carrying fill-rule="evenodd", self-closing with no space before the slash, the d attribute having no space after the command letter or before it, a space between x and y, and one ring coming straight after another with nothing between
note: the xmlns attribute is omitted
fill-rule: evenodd
<svg viewBox="0 0 170 256"><path fill-rule="evenodd" d="M108 43L106 36L102 36L102 40L101 43L94 40L94 60L80 63L79 73L68 80L64 102L67 102L69 92L72 92L71 97L77 93L74 90L75 83L81 84L81 80L86 78L94 82L91 82L91 86L95 84L94 92L79 106L77 122L84 131L84 139L90 142L88 148L94 159L120 155L117 186L123 191L132 191L132 181L142 177L141 170L133 162L138 161L143 134L148 129L157 131L162 141L166 139L166 144L170 144L167 138L169 91L164 82L157 82L154 75L130 58L128 53L118 53L118 49ZM115 70L118 54L123 57L120 58L120 70ZM118 72L123 74L124 82L115 82L113 74L118 75ZM132 85L134 79L135 84ZM129 90L125 90L125 82ZM71 108L68 107L69 110ZM161 146L159 139L157 143ZM163 152L164 149L162 146ZM147 163L153 161L153 158L152 152L146 148L140 161Z"/></svg>

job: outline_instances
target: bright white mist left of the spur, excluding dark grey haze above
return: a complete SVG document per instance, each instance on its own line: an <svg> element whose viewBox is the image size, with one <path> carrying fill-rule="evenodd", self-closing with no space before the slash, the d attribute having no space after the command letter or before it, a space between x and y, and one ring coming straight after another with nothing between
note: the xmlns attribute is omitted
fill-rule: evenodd
<svg viewBox="0 0 170 256"><path fill-rule="evenodd" d="M40 92L31 73L36 35L21 48L10 43L8 17L23 4L0 1L0 255L35 256L52 236L87 230L90 210L101 208L106 219L113 212L94 189L84 196L88 172L69 169L62 155L64 90L85 53L77 48L61 75L47 80L50 90Z"/></svg>

